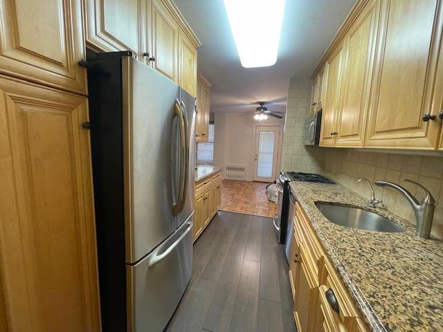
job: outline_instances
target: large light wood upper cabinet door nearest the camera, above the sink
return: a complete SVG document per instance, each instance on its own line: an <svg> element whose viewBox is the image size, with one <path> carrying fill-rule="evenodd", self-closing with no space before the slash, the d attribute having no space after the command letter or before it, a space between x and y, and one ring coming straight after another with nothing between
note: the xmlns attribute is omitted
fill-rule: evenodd
<svg viewBox="0 0 443 332"><path fill-rule="evenodd" d="M382 1L365 147L437 147L441 122L422 115L437 115L442 104L442 89L435 89L443 80L442 11L437 0Z"/></svg>

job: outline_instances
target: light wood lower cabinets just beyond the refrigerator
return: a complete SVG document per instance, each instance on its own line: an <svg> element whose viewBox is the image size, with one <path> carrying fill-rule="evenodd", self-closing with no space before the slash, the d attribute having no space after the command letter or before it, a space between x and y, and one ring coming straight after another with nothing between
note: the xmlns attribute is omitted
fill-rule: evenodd
<svg viewBox="0 0 443 332"><path fill-rule="evenodd" d="M209 225L221 204L221 172L195 184L194 241Z"/></svg>

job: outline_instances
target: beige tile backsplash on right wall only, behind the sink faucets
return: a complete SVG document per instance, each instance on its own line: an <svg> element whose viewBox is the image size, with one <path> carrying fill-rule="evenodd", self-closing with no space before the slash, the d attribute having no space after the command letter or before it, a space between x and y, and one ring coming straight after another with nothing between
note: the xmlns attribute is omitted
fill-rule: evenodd
<svg viewBox="0 0 443 332"><path fill-rule="evenodd" d="M341 183L361 196L371 196L367 183L358 183L359 178L371 182L386 180L397 183L413 194L418 201L424 198L424 191L405 180L416 181L426 187L436 203L431 234L443 239L443 158L407 154L384 154L357 151L354 149L318 148L323 154L321 173ZM388 210L415 224L413 209L404 196L390 188L374 185L375 197L381 199Z"/></svg>

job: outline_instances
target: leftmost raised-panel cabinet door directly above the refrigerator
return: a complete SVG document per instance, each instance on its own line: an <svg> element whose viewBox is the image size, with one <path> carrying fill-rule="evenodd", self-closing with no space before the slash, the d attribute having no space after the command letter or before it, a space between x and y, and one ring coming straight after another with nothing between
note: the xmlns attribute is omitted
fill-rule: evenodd
<svg viewBox="0 0 443 332"><path fill-rule="evenodd" d="M89 0L87 43L103 51L131 50L143 56L145 0Z"/></svg>

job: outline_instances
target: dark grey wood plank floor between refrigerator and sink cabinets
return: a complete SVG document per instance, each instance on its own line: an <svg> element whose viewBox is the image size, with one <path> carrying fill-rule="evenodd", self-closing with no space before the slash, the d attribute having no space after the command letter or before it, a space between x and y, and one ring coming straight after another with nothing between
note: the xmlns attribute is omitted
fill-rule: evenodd
<svg viewBox="0 0 443 332"><path fill-rule="evenodd" d="M270 218L219 212L166 331L296 331L287 270Z"/></svg>

